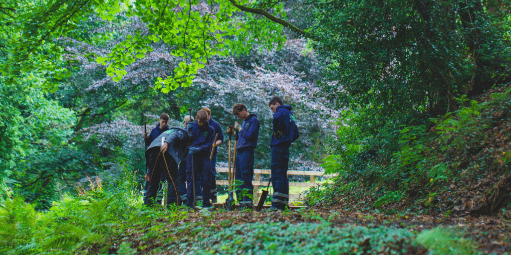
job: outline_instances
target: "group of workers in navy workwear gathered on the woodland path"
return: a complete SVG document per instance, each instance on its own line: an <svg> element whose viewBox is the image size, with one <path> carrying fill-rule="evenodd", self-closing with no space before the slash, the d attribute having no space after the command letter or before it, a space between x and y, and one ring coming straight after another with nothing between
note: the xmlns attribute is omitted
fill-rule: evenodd
<svg viewBox="0 0 511 255"><path fill-rule="evenodd" d="M287 177L289 146L299 136L292 107L284 105L281 98L274 96L268 103L273 112L271 137L271 184L273 198L267 211L285 210L289 202L289 181ZM254 149L259 139L259 119L248 112L243 104L236 104L233 115L243 122L228 127L227 134L237 135L235 180L241 186L236 189L240 210L253 209ZM224 134L211 110L204 107L194 119L187 115L182 127L169 127L169 115L161 114L158 124L148 135L146 142L146 190L144 203L158 202L160 182L168 183L168 204L193 207L202 199L203 207L217 202L216 154L217 147L224 142ZM217 136L218 134L218 136ZM211 159L210 159L211 158Z"/></svg>

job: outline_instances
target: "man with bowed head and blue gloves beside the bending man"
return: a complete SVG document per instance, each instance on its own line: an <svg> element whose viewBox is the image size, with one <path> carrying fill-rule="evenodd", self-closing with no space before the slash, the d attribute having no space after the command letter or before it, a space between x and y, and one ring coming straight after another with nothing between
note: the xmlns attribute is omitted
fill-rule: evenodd
<svg viewBox="0 0 511 255"><path fill-rule="evenodd" d="M207 122L207 112L197 112L196 121L187 125L187 130L192 134L193 143L188 150L187 159L187 184L195 185L194 179L200 175L202 179L202 206L211 207L211 161L210 149L215 139L215 130ZM195 174L195 176L194 176ZM193 207L195 197L193 186L187 189L188 206Z"/></svg>

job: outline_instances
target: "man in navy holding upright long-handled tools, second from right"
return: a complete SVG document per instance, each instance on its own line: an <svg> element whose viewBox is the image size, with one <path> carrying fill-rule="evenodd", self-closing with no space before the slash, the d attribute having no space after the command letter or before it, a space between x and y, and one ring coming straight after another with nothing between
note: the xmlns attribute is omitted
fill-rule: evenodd
<svg viewBox="0 0 511 255"><path fill-rule="evenodd" d="M243 123L235 122L234 128L238 130L238 146L235 148L235 180L243 181L240 189L236 189L236 197L240 201L240 210L252 209L253 202L249 196L253 194L252 179L254 174L254 149L257 148L259 139L259 119L253 113L247 111L243 104L233 107L233 115L243 120ZM234 130L227 129L227 134L234 134Z"/></svg>

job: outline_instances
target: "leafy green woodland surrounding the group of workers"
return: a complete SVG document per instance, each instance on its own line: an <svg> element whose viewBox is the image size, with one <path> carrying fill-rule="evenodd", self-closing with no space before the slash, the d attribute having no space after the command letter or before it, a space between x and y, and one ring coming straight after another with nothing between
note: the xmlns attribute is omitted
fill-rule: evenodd
<svg viewBox="0 0 511 255"><path fill-rule="evenodd" d="M284 215L286 228L311 234L299 223L314 229L321 221L326 225L317 229L328 232L325 222L333 222L343 236L354 229L340 224L353 217L345 221L339 212L356 212L362 219L353 224L374 220L378 227L357 228L373 240L345 242L347 253L442 254L433 235L444 235L447 249L460 254L509 250L511 239L502 233L511 227L510 6L506 0L4 0L5 250L144 253L163 247L153 237L178 245L177 232L160 235L172 224L191 238L202 226L187 222L212 217L223 223L211 227L236 232L242 224L236 215L190 220L179 211L141 207L143 124L151 129L166 112L170 125L180 125L188 108L207 106L225 128L235 121L231 107L243 103L261 122L255 167L267 169L273 95L294 108L300 129L291 169L338 174L307 192L312 210L323 211ZM225 164L226 146L219 153ZM408 224L405 216L497 215L487 220L497 233L475 234L471 225L466 236L433 230L421 237L424 226L401 232L404 225L379 214L397 215L391 221L403 219L397 224ZM152 225L144 215L165 220ZM273 233L285 229L278 220L267 223ZM387 240L386 233L401 239ZM368 246L374 240L378 245ZM229 241L230 248L208 251L259 247Z"/></svg>

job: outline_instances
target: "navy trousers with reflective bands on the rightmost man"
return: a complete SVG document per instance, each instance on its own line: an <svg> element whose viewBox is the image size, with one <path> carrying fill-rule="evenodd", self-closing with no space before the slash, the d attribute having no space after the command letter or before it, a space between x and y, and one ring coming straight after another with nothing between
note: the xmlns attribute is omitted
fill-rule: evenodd
<svg viewBox="0 0 511 255"><path fill-rule="evenodd" d="M289 180L287 170L289 166L289 147L271 147L271 185L273 186L273 199L271 207L286 209L289 203Z"/></svg>

